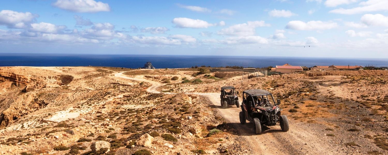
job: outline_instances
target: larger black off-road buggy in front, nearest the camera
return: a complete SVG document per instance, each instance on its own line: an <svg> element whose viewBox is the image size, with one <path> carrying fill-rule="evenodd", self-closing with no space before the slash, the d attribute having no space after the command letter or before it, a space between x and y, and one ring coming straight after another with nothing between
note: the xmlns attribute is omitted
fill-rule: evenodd
<svg viewBox="0 0 388 155"><path fill-rule="evenodd" d="M281 115L280 100L266 90L245 90L242 92L240 123L253 122L256 134L262 133L262 126L275 126L279 122L282 131L288 131L288 119Z"/></svg>

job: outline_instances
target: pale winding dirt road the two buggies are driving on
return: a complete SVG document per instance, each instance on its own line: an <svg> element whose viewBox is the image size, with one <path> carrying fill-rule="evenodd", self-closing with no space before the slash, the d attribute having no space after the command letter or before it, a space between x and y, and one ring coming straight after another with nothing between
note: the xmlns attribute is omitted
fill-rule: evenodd
<svg viewBox="0 0 388 155"><path fill-rule="evenodd" d="M162 83L150 81L137 76L135 78L127 77L124 72L115 73L114 76L143 81L151 83L152 86L147 89L151 93L160 93L157 89L163 86ZM344 154L343 149L331 143L330 139L324 135L323 131L317 131L312 126L319 126L319 124L304 124L289 119L290 129L288 132L283 132L280 126L264 127L263 133L256 135L253 132L253 124L240 124L239 112L240 108L232 107L223 109L220 106L220 98L217 93L193 93L203 95L209 98L213 105L218 107L221 114L229 121L230 125L234 126L239 131L239 136L242 136L249 145L249 148L257 155L334 155Z"/></svg>

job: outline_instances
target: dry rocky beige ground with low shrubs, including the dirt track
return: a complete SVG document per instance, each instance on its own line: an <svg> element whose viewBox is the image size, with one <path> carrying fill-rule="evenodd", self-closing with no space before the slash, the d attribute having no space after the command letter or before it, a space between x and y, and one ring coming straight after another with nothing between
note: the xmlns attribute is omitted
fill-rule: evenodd
<svg viewBox="0 0 388 155"><path fill-rule="evenodd" d="M197 69L0 67L0 153L388 153L387 71L250 79L241 72L197 74ZM290 130L270 126L254 134L252 123L239 123L240 108L221 108L222 86L235 86L240 98L243 90L270 91L282 101ZM147 134L153 139L144 139ZM101 141L109 150L93 152L90 145Z"/></svg>

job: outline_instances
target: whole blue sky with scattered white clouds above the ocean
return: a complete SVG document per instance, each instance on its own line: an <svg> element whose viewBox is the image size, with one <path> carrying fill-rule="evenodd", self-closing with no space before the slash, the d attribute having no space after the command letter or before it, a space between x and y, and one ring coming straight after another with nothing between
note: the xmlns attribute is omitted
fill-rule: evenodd
<svg viewBox="0 0 388 155"><path fill-rule="evenodd" d="M388 59L388 0L2 0L0 47Z"/></svg>

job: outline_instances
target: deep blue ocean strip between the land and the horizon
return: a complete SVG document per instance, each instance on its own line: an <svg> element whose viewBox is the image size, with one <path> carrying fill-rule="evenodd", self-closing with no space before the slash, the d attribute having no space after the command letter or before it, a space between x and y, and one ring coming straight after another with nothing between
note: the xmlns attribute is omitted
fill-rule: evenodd
<svg viewBox="0 0 388 155"><path fill-rule="evenodd" d="M290 64L314 65L373 65L388 66L388 59L316 58L316 57L249 57L201 55L107 55L107 54L31 54L0 53L0 66L107 66L138 68L151 62L156 68L187 68L192 66L267 67Z"/></svg>

